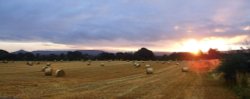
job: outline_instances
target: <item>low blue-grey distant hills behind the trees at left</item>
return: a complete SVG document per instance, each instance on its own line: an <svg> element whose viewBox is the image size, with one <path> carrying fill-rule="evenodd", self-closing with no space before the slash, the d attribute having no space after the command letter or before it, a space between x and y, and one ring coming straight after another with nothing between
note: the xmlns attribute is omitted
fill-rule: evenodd
<svg viewBox="0 0 250 99"><path fill-rule="evenodd" d="M69 51L72 50L53 50L53 51L49 51L49 50L38 50L38 51L32 51L31 53L33 54L40 54L40 55L50 55L50 54L55 54L55 55L60 55L60 54L67 54ZM100 53L103 53L104 51L101 50L73 50L73 51L79 51L82 54L89 54L89 55L98 55ZM18 50L16 52L12 52L13 54L19 54L19 53L27 53L29 51L25 51L25 50Z"/></svg>

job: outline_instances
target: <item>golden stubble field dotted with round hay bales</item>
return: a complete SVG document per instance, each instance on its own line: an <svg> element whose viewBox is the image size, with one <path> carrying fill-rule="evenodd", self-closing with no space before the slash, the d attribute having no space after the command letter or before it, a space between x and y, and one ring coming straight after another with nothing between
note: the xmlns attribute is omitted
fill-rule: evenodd
<svg viewBox="0 0 250 99"><path fill-rule="evenodd" d="M51 62L53 68L65 70L65 77L44 76L41 69L46 63L0 63L0 99L237 98L208 73L216 67L216 61L146 61L139 62L139 68L127 61L93 61L91 65L82 61ZM152 65L154 74L146 74L145 64ZM182 72L183 66L190 71Z"/></svg>

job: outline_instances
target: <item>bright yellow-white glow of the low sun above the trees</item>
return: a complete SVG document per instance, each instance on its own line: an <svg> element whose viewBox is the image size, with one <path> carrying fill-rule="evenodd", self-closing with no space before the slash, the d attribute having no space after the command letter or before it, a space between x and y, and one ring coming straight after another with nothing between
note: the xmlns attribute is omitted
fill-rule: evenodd
<svg viewBox="0 0 250 99"><path fill-rule="evenodd" d="M198 54L200 50L202 52L207 52L210 48L216 48L220 51L240 49L242 45L237 45L237 43L247 38L249 38L247 35L240 35L232 38L207 37L199 40L190 38L182 40L177 49L179 52L191 52L193 54Z"/></svg>

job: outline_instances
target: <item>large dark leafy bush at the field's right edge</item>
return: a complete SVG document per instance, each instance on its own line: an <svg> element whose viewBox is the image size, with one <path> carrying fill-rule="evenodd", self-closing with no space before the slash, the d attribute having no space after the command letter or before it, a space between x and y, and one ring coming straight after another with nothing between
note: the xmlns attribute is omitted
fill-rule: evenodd
<svg viewBox="0 0 250 99"><path fill-rule="evenodd" d="M239 99L250 99L250 48L231 51L223 56L217 72Z"/></svg>

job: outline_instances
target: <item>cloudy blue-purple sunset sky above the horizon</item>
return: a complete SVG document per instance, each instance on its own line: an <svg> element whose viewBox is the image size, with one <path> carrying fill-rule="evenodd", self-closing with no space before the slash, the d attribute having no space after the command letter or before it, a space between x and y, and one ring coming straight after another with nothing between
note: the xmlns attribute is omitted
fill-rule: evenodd
<svg viewBox="0 0 250 99"><path fill-rule="evenodd" d="M0 49L245 47L250 0L0 0Z"/></svg>

